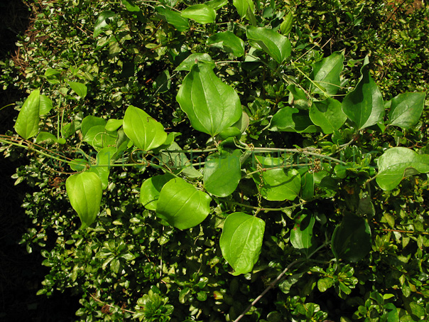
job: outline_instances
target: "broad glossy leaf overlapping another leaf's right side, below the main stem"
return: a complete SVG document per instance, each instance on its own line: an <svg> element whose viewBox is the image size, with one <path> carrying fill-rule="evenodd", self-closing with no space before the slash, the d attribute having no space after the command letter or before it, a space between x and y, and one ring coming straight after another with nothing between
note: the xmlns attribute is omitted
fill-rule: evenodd
<svg viewBox="0 0 429 322"><path fill-rule="evenodd" d="M210 213L210 198L182 178L165 183L156 206L156 215L170 225L188 229L200 225Z"/></svg>

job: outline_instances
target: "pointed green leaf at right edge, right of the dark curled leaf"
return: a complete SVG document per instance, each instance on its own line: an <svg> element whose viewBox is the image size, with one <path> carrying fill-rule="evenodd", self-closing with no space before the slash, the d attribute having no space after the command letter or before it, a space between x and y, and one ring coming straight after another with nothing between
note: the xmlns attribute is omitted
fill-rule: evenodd
<svg viewBox="0 0 429 322"><path fill-rule="evenodd" d="M423 112L426 93L403 93L391 100L389 124L411 129Z"/></svg>

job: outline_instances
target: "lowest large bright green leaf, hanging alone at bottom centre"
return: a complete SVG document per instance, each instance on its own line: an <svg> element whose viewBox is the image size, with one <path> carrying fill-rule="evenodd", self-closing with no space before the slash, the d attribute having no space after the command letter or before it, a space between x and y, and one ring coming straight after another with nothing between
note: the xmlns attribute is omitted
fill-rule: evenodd
<svg viewBox="0 0 429 322"><path fill-rule="evenodd" d="M246 213L232 213L224 222L219 246L233 275L251 272L261 253L265 222Z"/></svg>

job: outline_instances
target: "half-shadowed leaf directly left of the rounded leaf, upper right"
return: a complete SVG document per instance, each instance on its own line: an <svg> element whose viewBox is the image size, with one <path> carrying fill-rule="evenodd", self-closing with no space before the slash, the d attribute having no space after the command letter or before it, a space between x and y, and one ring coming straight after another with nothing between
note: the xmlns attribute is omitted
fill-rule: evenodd
<svg viewBox="0 0 429 322"><path fill-rule="evenodd" d="M274 114L270 131L315 133L317 127L311 122L307 111L286 106Z"/></svg>

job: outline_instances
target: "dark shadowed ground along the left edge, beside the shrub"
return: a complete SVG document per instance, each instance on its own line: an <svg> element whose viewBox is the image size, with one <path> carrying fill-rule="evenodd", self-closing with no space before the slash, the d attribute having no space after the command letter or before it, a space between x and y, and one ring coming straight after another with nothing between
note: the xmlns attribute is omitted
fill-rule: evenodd
<svg viewBox="0 0 429 322"><path fill-rule="evenodd" d="M32 13L24 2L0 0L1 61L18 58L15 43L31 26ZM24 95L18 89L0 88L0 109ZM17 114L13 106L0 110L0 134L13 130ZM75 321L78 299L59 292L49 299L36 296L48 269L41 265L43 257L38 252L28 254L24 245L18 245L31 225L21 208L23 197L31 189L25 183L14 186L11 176L24 162L0 156L0 321Z"/></svg>

